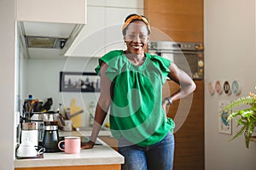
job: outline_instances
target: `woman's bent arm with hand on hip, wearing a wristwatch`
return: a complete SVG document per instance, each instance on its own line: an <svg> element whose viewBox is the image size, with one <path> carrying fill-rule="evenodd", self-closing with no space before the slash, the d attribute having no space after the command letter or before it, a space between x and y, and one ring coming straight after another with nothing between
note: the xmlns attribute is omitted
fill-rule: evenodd
<svg viewBox="0 0 256 170"><path fill-rule="evenodd" d="M189 77L186 72L177 68L177 65L172 63L169 67L169 70L170 73L168 74L168 77L170 77L172 81L179 84L181 88L175 94L172 94L172 96L169 97L169 101L165 100L165 104L168 104L170 102L172 103L172 101L175 101L177 99L183 99L187 95L194 92L196 88L195 82L193 82L192 78Z"/></svg>

